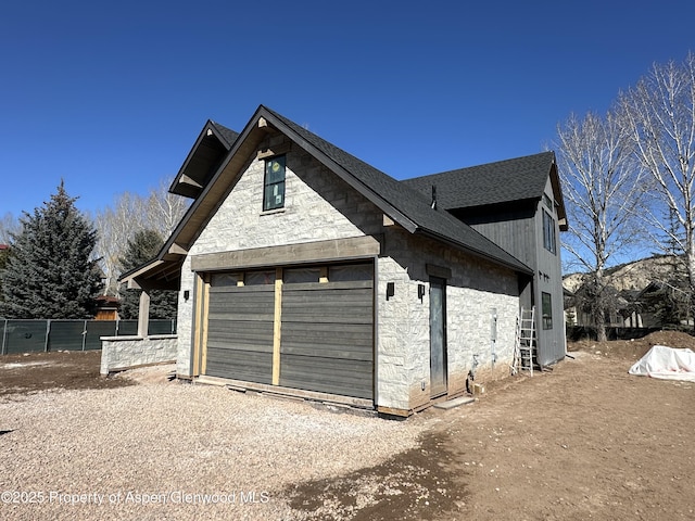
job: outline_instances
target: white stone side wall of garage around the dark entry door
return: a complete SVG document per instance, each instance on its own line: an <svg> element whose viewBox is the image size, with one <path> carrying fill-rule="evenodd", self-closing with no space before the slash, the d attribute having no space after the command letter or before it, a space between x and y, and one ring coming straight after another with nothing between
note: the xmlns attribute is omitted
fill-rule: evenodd
<svg viewBox="0 0 695 521"><path fill-rule="evenodd" d="M430 401L428 264L452 270L446 280L448 394L466 390L473 368L476 382L508 376L519 310L517 275L397 228L389 231L386 245L377 292L378 405L413 410ZM388 282L395 284L389 301ZM426 289L421 301L418 284ZM497 318L494 356L493 309Z"/></svg>

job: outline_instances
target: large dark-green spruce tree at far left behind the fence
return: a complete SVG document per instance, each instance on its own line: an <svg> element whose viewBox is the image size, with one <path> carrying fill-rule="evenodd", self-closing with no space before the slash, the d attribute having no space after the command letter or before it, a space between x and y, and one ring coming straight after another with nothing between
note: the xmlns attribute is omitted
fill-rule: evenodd
<svg viewBox="0 0 695 521"><path fill-rule="evenodd" d="M2 271L0 316L92 318L101 272L92 257L97 231L63 186L50 201L24 213Z"/></svg>

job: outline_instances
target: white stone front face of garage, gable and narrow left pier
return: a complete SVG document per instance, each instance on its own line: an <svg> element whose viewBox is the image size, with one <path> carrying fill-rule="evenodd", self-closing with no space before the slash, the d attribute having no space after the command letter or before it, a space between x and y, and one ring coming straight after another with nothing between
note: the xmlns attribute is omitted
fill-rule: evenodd
<svg viewBox="0 0 695 521"><path fill-rule="evenodd" d="M279 139L279 138L276 138ZM273 142L270 145L275 144ZM266 247L382 231L382 214L358 192L296 144L287 153L285 207L263 212L264 161L252 160L189 251L181 268L177 332L177 373L190 376L193 298L190 257L205 253Z"/></svg>

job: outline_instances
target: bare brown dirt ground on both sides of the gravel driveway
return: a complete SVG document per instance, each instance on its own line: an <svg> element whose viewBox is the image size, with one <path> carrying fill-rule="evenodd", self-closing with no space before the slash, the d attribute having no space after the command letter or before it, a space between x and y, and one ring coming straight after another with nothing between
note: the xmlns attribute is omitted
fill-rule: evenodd
<svg viewBox="0 0 695 521"><path fill-rule="evenodd" d="M571 344L553 370L408 419L428 424L416 449L286 496L303 519L695 519L695 384L628 374L655 344L695 350L672 332ZM4 356L0 395L131 383L99 377L99 355Z"/></svg>

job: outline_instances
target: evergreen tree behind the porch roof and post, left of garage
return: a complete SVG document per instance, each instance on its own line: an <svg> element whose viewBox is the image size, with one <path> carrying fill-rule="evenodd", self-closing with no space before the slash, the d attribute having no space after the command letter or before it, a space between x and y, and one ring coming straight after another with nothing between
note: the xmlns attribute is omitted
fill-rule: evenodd
<svg viewBox="0 0 695 521"><path fill-rule="evenodd" d="M125 254L119 258L122 272L127 272L152 260L164 244L162 236L155 230L146 229L136 232L128 240ZM138 318L140 309L140 293L142 290L125 290L121 294L119 316L125 319ZM152 290L150 293L150 318L176 318L178 292L168 290Z"/></svg>

